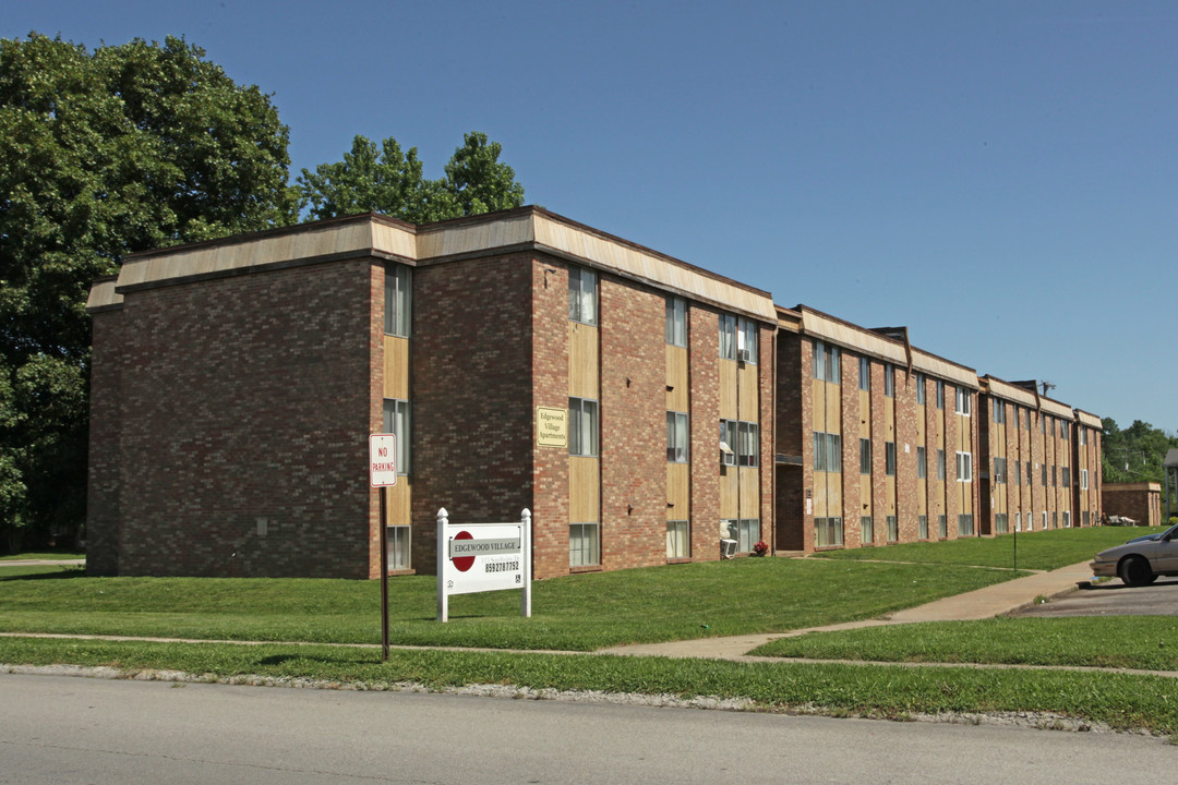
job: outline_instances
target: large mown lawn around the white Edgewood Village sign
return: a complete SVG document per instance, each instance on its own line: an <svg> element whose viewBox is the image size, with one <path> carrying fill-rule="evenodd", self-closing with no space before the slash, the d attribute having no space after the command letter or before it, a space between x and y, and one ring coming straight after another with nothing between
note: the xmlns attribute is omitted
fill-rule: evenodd
<svg viewBox="0 0 1178 785"><path fill-rule="evenodd" d="M959 565L736 559L537 581L450 599L436 580L389 581L397 644L589 651L865 619L1008 580ZM0 567L0 631L312 643L379 641L379 581L87 578L80 568Z"/></svg>

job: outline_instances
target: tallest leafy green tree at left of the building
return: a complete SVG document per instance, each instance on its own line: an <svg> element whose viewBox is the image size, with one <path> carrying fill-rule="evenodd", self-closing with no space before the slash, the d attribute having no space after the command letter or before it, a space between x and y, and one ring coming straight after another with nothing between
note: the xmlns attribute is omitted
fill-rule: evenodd
<svg viewBox="0 0 1178 785"><path fill-rule="evenodd" d="M287 142L270 97L184 39L0 40L0 548L84 518L91 281L297 220Z"/></svg>

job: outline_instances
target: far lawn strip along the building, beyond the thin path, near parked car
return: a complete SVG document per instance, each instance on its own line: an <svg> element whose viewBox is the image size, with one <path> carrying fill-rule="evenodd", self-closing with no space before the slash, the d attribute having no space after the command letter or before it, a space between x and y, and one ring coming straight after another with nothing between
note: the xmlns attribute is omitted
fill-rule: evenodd
<svg viewBox="0 0 1178 785"><path fill-rule="evenodd" d="M1080 561L1090 561L1098 551L1120 545L1130 538L1162 531L1165 528L1160 526L1053 528L1045 532L1000 534L994 538L971 537L945 543L902 543L880 547L823 551L815 556L838 560L892 560L1013 567L1017 543L1019 570L1058 570Z"/></svg>

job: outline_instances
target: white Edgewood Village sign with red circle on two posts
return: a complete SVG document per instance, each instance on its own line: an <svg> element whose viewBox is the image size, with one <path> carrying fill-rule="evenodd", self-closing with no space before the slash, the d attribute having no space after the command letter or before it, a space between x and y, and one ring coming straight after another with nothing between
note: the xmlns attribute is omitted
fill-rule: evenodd
<svg viewBox="0 0 1178 785"><path fill-rule="evenodd" d="M438 510L438 621L450 617L450 596L522 588L521 613L531 618L531 511L516 523L451 525Z"/></svg>

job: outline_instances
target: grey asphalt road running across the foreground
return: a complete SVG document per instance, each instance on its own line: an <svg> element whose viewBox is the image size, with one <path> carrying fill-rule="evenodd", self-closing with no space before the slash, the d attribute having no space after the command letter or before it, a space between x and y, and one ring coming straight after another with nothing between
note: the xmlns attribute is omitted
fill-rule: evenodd
<svg viewBox="0 0 1178 785"><path fill-rule="evenodd" d="M11 673L0 706L0 783L35 785L1074 785L1174 761L1112 733Z"/></svg>

